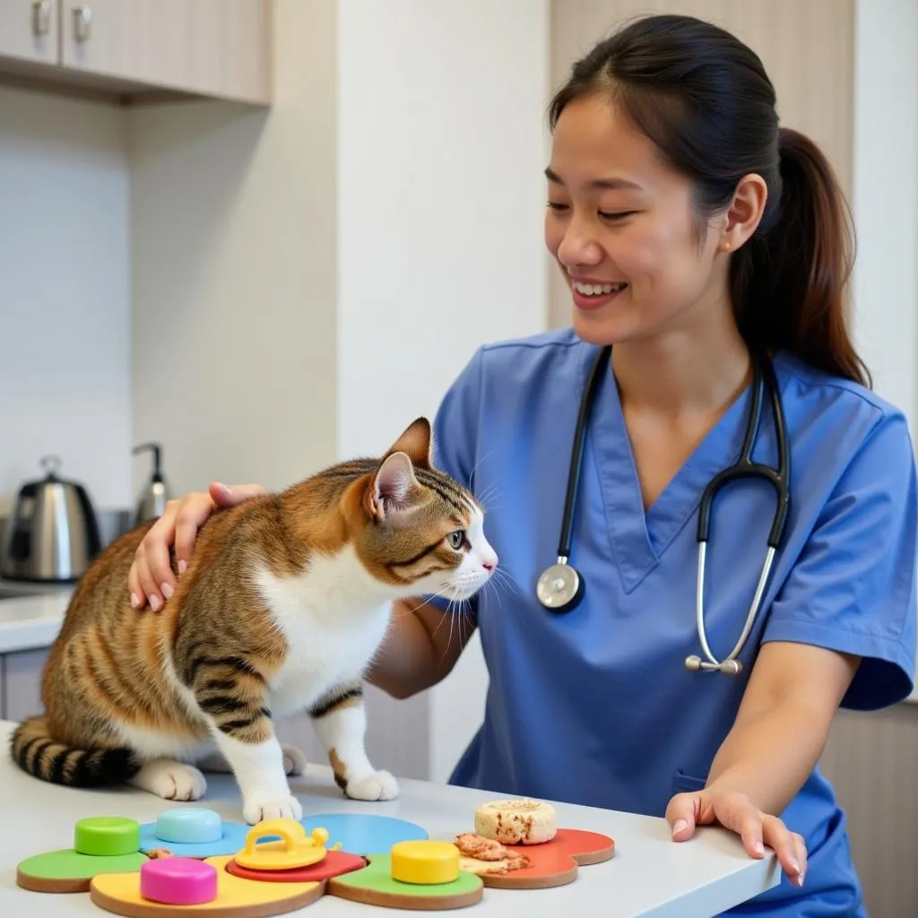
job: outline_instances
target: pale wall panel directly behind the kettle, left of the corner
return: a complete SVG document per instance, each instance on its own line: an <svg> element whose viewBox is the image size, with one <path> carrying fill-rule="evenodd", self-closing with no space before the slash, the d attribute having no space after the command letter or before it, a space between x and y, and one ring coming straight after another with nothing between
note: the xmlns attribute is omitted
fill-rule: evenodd
<svg viewBox="0 0 918 918"><path fill-rule="evenodd" d="M133 499L120 115L0 89L0 515L45 453L97 509Z"/></svg>

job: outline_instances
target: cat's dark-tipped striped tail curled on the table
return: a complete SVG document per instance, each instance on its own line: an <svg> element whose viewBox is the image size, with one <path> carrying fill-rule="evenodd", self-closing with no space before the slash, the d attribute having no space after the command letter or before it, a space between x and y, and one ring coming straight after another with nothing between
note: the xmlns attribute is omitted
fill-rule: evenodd
<svg viewBox="0 0 918 918"><path fill-rule="evenodd" d="M140 761L129 749L74 749L59 743L50 737L44 717L20 723L10 751L29 775L72 788L123 784L140 771Z"/></svg>

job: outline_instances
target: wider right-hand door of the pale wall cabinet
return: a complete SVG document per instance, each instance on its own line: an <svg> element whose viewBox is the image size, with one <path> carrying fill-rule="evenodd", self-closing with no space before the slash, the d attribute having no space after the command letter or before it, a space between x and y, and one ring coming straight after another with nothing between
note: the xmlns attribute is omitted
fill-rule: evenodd
<svg viewBox="0 0 918 918"><path fill-rule="evenodd" d="M269 0L62 0L62 62L164 90L270 101Z"/></svg>

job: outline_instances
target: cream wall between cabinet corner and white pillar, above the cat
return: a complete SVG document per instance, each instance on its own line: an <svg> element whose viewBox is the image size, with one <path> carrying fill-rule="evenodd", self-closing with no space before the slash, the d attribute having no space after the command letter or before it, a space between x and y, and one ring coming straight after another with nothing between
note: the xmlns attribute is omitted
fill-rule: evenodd
<svg viewBox="0 0 918 918"><path fill-rule="evenodd" d="M176 494L333 458L334 47L334 0L279 0L273 109L129 113L134 436Z"/></svg>

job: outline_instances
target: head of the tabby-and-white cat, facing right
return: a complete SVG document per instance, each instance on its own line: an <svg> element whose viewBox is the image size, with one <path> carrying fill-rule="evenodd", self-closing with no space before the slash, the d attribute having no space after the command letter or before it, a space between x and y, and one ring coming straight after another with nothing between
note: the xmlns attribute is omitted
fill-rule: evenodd
<svg viewBox="0 0 918 918"><path fill-rule="evenodd" d="M355 483L349 503L357 554L398 595L468 599L498 565L481 505L431 463L425 418L414 421Z"/></svg>

